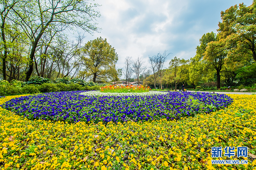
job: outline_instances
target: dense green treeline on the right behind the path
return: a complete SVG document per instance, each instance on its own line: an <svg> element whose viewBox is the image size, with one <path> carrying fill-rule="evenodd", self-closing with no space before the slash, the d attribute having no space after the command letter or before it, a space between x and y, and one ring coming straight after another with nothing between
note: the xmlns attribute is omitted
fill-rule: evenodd
<svg viewBox="0 0 256 170"><path fill-rule="evenodd" d="M155 82L165 87L185 83L204 87L256 86L256 1L243 3L221 12L218 33L206 33L200 39L196 55L190 60L174 58L169 68L151 74L144 85ZM156 57L159 60L159 57ZM154 70L154 67L152 68ZM158 75L158 76L156 76Z"/></svg>

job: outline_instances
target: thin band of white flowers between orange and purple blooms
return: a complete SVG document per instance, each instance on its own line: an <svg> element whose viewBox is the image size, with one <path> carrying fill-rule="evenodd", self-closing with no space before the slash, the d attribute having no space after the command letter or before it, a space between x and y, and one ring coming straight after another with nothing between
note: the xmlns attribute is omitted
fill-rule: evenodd
<svg viewBox="0 0 256 170"><path fill-rule="evenodd" d="M151 95L166 95L164 91L149 91L143 93L102 93L100 91L86 91L80 93L84 96L151 96Z"/></svg>

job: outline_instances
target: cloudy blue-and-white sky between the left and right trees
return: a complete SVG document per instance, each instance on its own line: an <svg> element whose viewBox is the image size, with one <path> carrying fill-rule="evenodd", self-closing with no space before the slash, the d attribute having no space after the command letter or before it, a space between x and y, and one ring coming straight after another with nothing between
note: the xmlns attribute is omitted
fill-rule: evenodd
<svg viewBox="0 0 256 170"><path fill-rule="evenodd" d="M118 54L116 67L123 68L126 56L136 59L167 50L165 67L175 56L195 56L199 39L204 33L217 33L220 12L253 0L95 0L101 17L97 19L100 33L87 35L87 41L102 37Z"/></svg>

